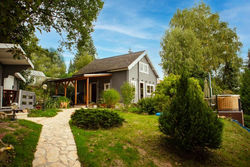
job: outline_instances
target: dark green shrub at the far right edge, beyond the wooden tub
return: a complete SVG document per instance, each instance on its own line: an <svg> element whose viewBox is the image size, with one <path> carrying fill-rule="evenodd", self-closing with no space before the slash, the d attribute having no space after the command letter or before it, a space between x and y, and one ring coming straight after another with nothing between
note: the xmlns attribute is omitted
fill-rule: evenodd
<svg viewBox="0 0 250 167"><path fill-rule="evenodd" d="M250 115L250 69L245 69L240 87L240 99L245 114Z"/></svg>

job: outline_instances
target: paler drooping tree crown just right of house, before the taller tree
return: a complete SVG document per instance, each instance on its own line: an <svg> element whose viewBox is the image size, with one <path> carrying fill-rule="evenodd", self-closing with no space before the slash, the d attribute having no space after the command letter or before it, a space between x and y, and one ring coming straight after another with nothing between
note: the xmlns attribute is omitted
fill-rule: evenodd
<svg viewBox="0 0 250 167"><path fill-rule="evenodd" d="M161 44L162 65L166 73L180 74L186 70L198 75L205 70L201 43L192 30L170 29Z"/></svg>

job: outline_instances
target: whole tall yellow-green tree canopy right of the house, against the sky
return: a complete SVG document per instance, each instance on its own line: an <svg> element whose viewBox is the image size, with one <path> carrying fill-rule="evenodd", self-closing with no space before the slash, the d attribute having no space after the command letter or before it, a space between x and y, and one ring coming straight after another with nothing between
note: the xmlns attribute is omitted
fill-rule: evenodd
<svg viewBox="0 0 250 167"><path fill-rule="evenodd" d="M241 46L236 29L201 2L174 14L161 42L162 67L167 74L185 70L197 78L211 72L224 89L234 90L239 86Z"/></svg>

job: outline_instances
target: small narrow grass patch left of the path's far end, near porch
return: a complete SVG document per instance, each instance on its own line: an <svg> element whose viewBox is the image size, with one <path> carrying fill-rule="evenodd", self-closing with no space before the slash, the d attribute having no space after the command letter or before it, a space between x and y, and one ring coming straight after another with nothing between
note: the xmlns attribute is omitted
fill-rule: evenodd
<svg viewBox="0 0 250 167"><path fill-rule="evenodd" d="M54 117L59 111L58 109L31 110L28 117Z"/></svg>

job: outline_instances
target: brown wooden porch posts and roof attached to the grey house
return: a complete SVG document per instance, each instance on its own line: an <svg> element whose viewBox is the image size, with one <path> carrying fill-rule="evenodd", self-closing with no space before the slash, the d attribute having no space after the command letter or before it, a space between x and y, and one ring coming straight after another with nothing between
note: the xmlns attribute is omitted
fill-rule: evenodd
<svg viewBox="0 0 250 167"><path fill-rule="evenodd" d="M111 73L97 73L97 74L83 74L81 76L73 76L70 78L63 78L63 79L55 79L50 80L49 82L55 82L56 85L56 95L58 94L58 87L63 85L64 87L64 96L67 96L67 87L70 83L74 85L75 88L75 104L77 104L77 81L79 80L86 80L86 105L89 104L89 78L96 78L96 77L107 77L112 76Z"/></svg>

